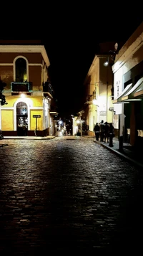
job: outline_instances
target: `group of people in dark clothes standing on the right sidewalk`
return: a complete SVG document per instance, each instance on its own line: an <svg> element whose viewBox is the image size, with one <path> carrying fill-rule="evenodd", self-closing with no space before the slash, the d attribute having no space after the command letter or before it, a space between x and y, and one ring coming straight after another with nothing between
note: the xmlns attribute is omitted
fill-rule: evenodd
<svg viewBox="0 0 143 256"><path fill-rule="evenodd" d="M94 125L94 133L97 141L100 138L101 142L109 143L109 139L111 141L111 138L114 137L114 126L112 123L104 123L104 120L102 120L101 123Z"/></svg>

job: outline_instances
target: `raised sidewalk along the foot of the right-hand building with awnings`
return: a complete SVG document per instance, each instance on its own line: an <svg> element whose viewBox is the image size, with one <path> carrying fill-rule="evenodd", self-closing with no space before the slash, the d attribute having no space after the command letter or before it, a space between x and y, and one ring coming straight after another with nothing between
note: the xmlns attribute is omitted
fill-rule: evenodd
<svg viewBox="0 0 143 256"><path fill-rule="evenodd" d="M140 151L137 151L134 150L129 143L123 143L122 151L119 151L119 141L113 140L113 147L110 147L109 143L96 141L96 139L94 139L94 142L143 169L143 157L141 149Z"/></svg>

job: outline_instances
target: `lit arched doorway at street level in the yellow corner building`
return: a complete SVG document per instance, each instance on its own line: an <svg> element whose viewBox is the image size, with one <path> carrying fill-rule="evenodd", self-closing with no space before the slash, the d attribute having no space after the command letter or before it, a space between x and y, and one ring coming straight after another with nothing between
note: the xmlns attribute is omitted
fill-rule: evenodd
<svg viewBox="0 0 143 256"><path fill-rule="evenodd" d="M28 113L27 105L24 102L19 102L16 105L16 124L17 136L27 136Z"/></svg>

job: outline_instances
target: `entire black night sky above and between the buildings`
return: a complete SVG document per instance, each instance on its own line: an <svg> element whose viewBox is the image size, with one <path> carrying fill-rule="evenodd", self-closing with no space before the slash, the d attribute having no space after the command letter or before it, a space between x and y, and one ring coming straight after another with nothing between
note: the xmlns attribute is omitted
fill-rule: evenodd
<svg viewBox="0 0 143 256"><path fill-rule="evenodd" d="M1 26L1 39L43 40L61 117L79 111L82 85L99 42L126 42L143 21L142 8L135 4L125 7L109 1L106 5L93 1L73 3L35 4L25 14L12 13L11 19L6 15L7 23Z"/></svg>

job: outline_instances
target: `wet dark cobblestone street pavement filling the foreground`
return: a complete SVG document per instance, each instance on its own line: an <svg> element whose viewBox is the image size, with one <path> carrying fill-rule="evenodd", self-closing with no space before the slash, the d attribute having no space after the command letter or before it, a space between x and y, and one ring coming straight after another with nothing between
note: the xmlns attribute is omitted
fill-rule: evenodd
<svg viewBox="0 0 143 256"><path fill-rule="evenodd" d="M0 255L142 250L142 170L93 138L6 139ZM138 250L138 251L137 251Z"/></svg>

